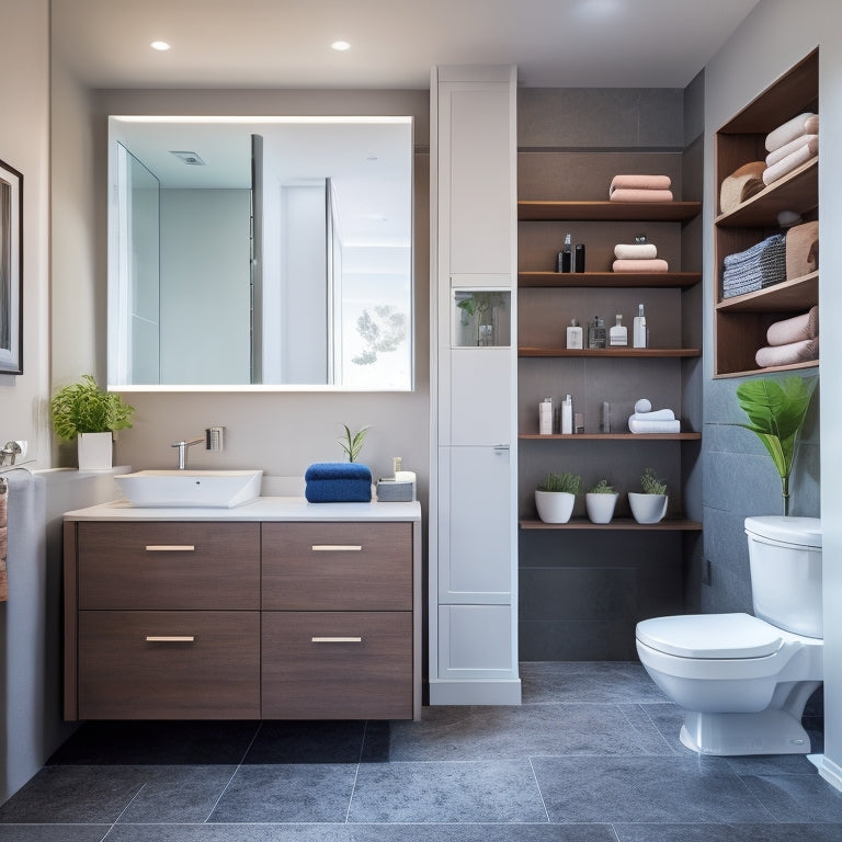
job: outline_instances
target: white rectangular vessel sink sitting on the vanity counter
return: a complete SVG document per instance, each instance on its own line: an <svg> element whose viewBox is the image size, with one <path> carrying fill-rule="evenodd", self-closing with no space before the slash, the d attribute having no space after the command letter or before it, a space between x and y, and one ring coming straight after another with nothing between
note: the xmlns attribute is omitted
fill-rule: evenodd
<svg viewBox="0 0 842 842"><path fill-rule="evenodd" d="M114 478L132 505L230 509L260 497L262 470L138 470Z"/></svg>

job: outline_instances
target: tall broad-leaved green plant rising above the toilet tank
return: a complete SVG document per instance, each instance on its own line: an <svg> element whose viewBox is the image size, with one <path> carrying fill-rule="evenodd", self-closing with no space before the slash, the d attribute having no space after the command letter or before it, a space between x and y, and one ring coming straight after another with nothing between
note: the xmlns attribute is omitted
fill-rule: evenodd
<svg viewBox="0 0 842 842"><path fill-rule="evenodd" d="M789 514L789 476L793 471L795 444L804 425L816 389L816 377L784 377L747 380L737 387L740 409L749 417L748 424L772 457L781 477L784 514Z"/></svg>

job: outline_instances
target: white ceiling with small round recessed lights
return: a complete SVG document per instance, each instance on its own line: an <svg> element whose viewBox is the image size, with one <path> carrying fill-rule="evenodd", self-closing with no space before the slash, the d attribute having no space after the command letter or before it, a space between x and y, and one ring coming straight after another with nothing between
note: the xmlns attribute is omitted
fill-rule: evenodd
<svg viewBox="0 0 842 842"><path fill-rule="evenodd" d="M52 23L95 88L425 89L434 65L480 64L527 87L683 88L756 2L52 0Z"/></svg>

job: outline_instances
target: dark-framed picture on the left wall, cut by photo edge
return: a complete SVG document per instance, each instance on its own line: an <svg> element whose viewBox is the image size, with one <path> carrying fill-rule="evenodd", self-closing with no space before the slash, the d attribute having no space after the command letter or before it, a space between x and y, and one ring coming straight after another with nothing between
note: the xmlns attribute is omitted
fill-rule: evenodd
<svg viewBox="0 0 842 842"><path fill-rule="evenodd" d="M0 374L23 374L23 175L0 161Z"/></svg>

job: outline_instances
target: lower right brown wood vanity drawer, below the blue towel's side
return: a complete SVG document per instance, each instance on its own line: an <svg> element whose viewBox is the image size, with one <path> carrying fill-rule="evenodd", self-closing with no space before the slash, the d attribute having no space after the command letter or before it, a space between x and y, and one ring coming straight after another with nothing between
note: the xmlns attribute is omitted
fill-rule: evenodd
<svg viewBox="0 0 842 842"><path fill-rule="evenodd" d="M410 612L264 612L264 719L411 719Z"/></svg>

